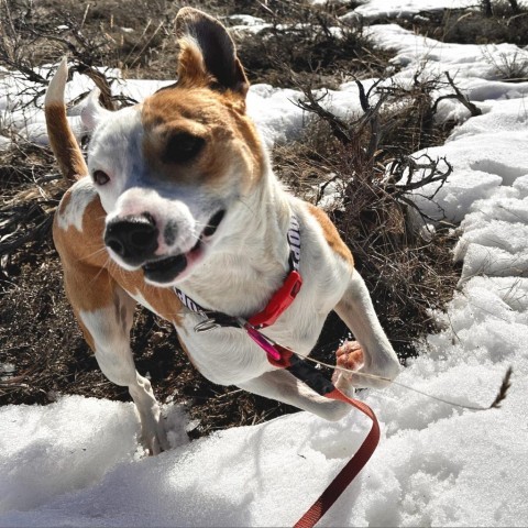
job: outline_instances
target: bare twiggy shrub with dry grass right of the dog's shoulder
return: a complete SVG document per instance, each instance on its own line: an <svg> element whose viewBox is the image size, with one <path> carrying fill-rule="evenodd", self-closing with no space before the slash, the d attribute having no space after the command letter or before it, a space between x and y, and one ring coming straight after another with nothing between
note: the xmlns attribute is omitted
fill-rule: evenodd
<svg viewBox="0 0 528 528"><path fill-rule="evenodd" d="M441 309L458 277L450 232L439 226L435 237L424 240L409 222L409 208L416 209L410 194L429 184L437 184L438 191L451 173L446 160L410 156L444 138L433 120L431 97L441 82L418 75L407 87L380 81L365 90L358 82L363 114L353 121L333 116L305 87L299 106L317 120L294 151L283 146L275 155L277 170L307 199L320 199L314 190L318 178L341 195L339 206L328 212L352 249L382 324L404 359L415 354L414 342L424 332L435 330L431 309ZM326 339L336 334L336 320L329 324Z"/></svg>

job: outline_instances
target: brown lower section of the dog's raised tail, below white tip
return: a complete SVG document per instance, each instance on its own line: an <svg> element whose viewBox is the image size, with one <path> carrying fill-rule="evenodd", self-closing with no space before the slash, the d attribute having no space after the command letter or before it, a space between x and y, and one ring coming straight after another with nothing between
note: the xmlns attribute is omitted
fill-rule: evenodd
<svg viewBox="0 0 528 528"><path fill-rule="evenodd" d="M61 173L68 182L88 174L85 158L66 118L63 103L52 102L45 107L47 135Z"/></svg>

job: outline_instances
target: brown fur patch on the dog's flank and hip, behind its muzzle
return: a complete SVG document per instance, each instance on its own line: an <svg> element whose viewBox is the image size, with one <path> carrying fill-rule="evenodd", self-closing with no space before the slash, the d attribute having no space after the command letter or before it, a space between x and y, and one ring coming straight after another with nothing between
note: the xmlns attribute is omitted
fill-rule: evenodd
<svg viewBox="0 0 528 528"><path fill-rule="evenodd" d="M70 193L65 195L65 199L70 199ZM54 223L53 235L63 263L66 294L77 319L80 310L94 311L114 306L117 289L121 287L132 295L141 295L156 314L178 326L182 301L172 289L147 285L142 271L127 272L110 260L103 244L105 217L96 196L86 207L80 233L74 226L67 230L59 228L57 219ZM82 323L80 326L82 328ZM92 343L88 332L89 344L90 340Z"/></svg>

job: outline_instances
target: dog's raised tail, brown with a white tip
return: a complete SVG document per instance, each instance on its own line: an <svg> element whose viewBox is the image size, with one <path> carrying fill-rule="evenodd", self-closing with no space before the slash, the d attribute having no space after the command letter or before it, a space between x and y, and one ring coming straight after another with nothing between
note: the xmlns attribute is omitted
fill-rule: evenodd
<svg viewBox="0 0 528 528"><path fill-rule="evenodd" d="M63 176L75 182L88 174L85 158L66 118L64 89L68 80L68 64L63 58L50 82L44 100L47 135Z"/></svg>

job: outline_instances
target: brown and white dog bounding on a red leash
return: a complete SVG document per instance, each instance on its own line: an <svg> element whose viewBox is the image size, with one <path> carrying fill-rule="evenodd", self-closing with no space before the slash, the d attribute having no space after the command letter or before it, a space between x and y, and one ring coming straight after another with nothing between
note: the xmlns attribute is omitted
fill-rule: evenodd
<svg viewBox="0 0 528 528"><path fill-rule="evenodd" d="M350 406L319 396L274 367L239 328L197 332L204 316L179 300L230 316L258 312L288 273L287 232L295 215L301 239L302 287L265 331L300 354L315 345L336 310L361 349L341 350L338 363L358 374L334 374L342 391L381 387L399 363L376 318L352 255L318 208L285 191L270 167L245 113L249 84L226 29L184 8L176 21L180 45L176 85L117 112L91 96L82 121L91 129L86 166L66 120L66 63L46 95L52 147L75 185L54 223L66 293L105 375L128 386L143 441L167 449L151 383L134 366L130 330L136 302L175 324L196 367L211 382L237 385L330 420ZM353 349L353 348L352 348Z"/></svg>

